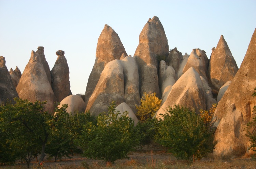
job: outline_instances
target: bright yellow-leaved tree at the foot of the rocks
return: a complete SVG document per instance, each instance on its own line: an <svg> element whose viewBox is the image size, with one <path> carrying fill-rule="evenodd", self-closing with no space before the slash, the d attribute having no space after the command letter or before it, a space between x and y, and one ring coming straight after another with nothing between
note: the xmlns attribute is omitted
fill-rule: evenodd
<svg viewBox="0 0 256 169"><path fill-rule="evenodd" d="M140 117L140 121L154 117L162 102L161 99L156 97L156 93L144 93L140 101L140 106L135 105L136 109L138 110L137 115Z"/></svg>

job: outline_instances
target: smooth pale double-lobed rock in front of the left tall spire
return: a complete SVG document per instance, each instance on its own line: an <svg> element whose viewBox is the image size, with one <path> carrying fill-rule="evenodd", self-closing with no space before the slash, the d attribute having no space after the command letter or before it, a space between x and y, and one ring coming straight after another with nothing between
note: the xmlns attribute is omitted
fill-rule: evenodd
<svg viewBox="0 0 256 169"><path fill-rule="evenodd" d="M108 110L112 100L116 105L126 102L133 111L135 104L140 104L138 66L132 57L113 60L105 66L86 110L99 115Z"/></svg>

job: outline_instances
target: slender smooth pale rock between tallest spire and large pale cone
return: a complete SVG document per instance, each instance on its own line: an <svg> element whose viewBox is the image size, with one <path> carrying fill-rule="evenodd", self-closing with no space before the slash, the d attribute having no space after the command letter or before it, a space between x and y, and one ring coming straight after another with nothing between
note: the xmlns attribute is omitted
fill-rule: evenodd
<svg viewBox="0 0 256 169"><path fill-rule="evenodd" d="M164 60L160 61L159 67L159 83L162 93L162 102L165 102L168 94L171 91L171 87L176 82L175 70L172 68L172 66L166 65Z"/></svg>

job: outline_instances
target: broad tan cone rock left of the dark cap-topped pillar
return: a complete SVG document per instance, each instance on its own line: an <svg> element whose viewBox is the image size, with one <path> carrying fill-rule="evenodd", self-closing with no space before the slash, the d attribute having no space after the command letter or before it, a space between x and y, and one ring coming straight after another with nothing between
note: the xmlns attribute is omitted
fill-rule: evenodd
<svg viewBox="0 0 256 169"><path fill-rule="evenodd" d="M40 55L34 51L31 52L31 57L19 80L16 90L19 97L22 99L28 99L31 102L46 100L47 103L44 105L45 110L53 113L56 98L45 72L43 64L45 61L41 56L42 54Z"/></svg>

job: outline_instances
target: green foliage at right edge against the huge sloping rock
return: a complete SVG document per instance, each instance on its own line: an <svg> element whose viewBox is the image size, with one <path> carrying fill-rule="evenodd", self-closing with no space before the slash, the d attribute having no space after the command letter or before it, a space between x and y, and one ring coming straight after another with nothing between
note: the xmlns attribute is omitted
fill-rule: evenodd
<svg viewBox="0 0 256 169"><path fill-rule="evenodd" d="M254 93L252 94L253 97L256 96L256 88L254 89ZM256 106L253 107L253 112L256 112ZM253 113L255 114L255 113ZM246 136L250 138L251 145L249 146L249 150L253 150L256 152L256 116L252 118L251 121L249 121L246 124Z"/></svg>

